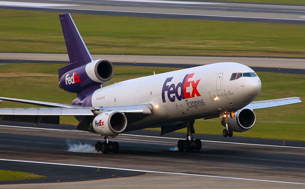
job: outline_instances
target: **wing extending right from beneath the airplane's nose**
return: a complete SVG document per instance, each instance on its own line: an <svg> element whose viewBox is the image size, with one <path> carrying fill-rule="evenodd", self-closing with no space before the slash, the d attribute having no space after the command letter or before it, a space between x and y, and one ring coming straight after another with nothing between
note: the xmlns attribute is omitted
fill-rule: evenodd
<svg viewBox="0 0 305 189"><path fill-rule="evenodd" d="M263 100L263 101L254 101L248 104L245 108L249 109L262 109L262 108L270 108L275 106L282 106L288 104L295 104L302 102L299 97L291 97L291 98L280 98L274 100Z"/></svg>

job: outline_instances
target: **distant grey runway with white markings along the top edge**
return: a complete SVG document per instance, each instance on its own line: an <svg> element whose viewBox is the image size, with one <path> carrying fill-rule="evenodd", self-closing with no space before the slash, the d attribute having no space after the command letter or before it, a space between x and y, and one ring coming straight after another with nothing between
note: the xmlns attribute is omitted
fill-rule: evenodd
<svg viewBox="0 0 305 189"><path fill-rule="evenodd" d="M2 1L0 8L151 18L305 24L304 5L225 3L202 0L41 0L39 3L35 0L20 0L18 2L16 4Z"/></svg>

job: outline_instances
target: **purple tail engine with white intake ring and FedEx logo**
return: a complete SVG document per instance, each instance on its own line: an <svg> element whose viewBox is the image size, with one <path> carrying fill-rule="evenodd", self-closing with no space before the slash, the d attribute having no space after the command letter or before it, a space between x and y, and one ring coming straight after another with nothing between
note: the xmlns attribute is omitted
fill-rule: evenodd
<svg viewBox="0 0 305 189"><path fill-rule="evenodd" d="M113 74L114 68L110 61L95 60L63 74L59 87L68 92L78 93L93 85L106 83Z"/></svg>

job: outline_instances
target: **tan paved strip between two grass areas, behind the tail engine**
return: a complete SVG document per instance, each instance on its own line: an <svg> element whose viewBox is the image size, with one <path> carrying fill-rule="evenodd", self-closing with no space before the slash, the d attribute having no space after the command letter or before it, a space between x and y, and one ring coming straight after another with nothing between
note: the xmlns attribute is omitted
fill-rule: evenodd
<svg viewBox="0 0 305 189"><path fill-rule="evenodd" d="M305 59L205 57L205 56L149 56L149 55L92 55L107 59L117 66L155 66L189 68L217 62L238 62L256 72L305 74ZM68 64L67 54L0 53L0 65L6 63L63 63Z"/></svg>

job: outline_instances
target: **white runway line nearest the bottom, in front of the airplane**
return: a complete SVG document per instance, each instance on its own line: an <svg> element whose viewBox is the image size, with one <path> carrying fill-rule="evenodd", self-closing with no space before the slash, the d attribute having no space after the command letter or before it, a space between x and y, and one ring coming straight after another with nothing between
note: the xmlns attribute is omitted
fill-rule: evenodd
<svg viewBox="0 0 305 189"><path fill-rule="evenodd" d="M238 177L221 177L221 176L212 176L212 175L200 175L200 174L188 174L188 173L173 173L173 172L137 170L137 169L122 169L122 168L115 168L115 167L86 166L86 165L75 165L75 164L65 164L65 163L35 162L35 161L13 160L13 159L0 159L0 161L24 162L24 163L40 163L40 164L48 164L48 165L75 166L75 167L91 167L91 168L100 168L100 169L114 169L114 170L123 170L123 171L137 171L137 172L144 172L144 173L161 173L161 174L185 175L185 176L195 176L195 177L210 177L210 178L222 178L222 179L249 180L249 181L259 181L259 182L272 182L272 183L282 183L282 184L301 184L301 185L305 185L305 183L285 182L285 181L276 181L276 180L247 179L247 178L238 178Z"/></svg>

